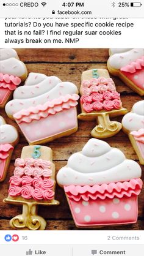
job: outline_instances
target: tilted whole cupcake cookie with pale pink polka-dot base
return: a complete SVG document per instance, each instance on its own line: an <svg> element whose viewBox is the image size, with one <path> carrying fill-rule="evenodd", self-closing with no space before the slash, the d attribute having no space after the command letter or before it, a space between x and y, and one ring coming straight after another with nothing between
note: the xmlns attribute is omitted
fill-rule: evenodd
<svg viewBox="0 0 144 256"><path fill-rule="evenodd" d="M15 119L30 145L42 144L76 132L77 93L73 83L30 73L5 111Z"/></svg>

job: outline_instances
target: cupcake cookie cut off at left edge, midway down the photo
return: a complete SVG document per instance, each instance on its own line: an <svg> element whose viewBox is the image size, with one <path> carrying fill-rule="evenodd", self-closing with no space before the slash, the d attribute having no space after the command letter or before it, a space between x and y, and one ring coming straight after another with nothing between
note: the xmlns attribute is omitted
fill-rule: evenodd
<svg viewBox="0 0 144 256"><path fill-rule="evenodd" d="M4 118L0 116L0 182L5 179L12 152L18 139L16 128L6 124Z"/></svg>

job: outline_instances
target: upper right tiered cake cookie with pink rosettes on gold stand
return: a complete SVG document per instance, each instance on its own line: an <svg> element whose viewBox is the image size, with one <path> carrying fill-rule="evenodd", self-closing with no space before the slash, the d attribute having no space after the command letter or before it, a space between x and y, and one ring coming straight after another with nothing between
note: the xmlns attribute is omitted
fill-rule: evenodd
<svg viewBox="0 0 144 256"><path fill-rule="evenodd" d="M116 91L112 78L106 69L92 69L82 73L81 109L79 119L95 120L98 125L92 130L95 138L111 137L119 132L120 122L111 122L109 116L127 113L122 107L120 94Z"/></svg>

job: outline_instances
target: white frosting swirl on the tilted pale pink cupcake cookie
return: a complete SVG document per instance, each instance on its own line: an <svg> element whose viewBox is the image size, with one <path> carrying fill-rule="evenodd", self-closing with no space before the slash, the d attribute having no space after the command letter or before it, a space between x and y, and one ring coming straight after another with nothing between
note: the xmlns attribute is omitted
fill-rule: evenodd
<svg viewBox="0 0 144 256"><path fill-rule="evenodd" d="M49 78L51 81L50 85L48 83ZM34 81L36 82L34 83ZM15 90L15 99L5 105L7 115L13 116L16 112L22 109L35 107L39 104L45 104L47 101L57 99L60 96L65 96L66 94L78 93L77 87L73 83L60 83L59 81L60 80L57 77L46 77L43 74L30 73L30 78L27 78L25 85ZM38 88L36 86L38 86ZM21 95L23 94L23 96L20 96L20 92L22 92ZM23 99L21 99L21 97L23 97Z"/></svg>

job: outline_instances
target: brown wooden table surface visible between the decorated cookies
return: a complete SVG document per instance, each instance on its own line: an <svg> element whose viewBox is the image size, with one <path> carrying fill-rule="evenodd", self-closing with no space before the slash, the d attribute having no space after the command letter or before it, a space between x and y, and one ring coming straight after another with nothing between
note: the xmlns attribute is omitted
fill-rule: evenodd
<svg viewBox="0 0 144 256"><path fill-rule="evenodd" d="M21 61L26 63L28 72L45 73L46 75L56 75L62 81L71 81L79 88L81 85L81 73L88 69L106 69L108 55L107 49L16 49ZM138 94L129 89L118 78L112 77L117 86L117 91L121 93L123 107L131 110L132 105L141 100ZM80 113L80 109L78 109ZM7 117L4 110L0 110L8 124L12 124L16 128L15 121ZM121 121L121 117L115 118ZM74 152L81 151L82 147L90 138L90 130L95 127L95 122L79 121L79 129L75 134L69 137L59 138L46 144L53 151L54 164L56 170L67 164L68 157ZM10 230L9 220L17 214L21 214L21 206L8 205L2 202L7 197L9 189L9 178L13 175L14 161L21 155L21 149L27 145L26 139L23 137L20 129L20 143L15 147L12 161L10 163L7 178L0 184L0 230ZM117 135L107 138L106 141L112 147L121 149L128 159L138 161L138 157L131 146L129 138L120 131ZM144 179L144 167L143 176ZM39 214L47 220L46 230L77 230L71 217L70 209L63 193L63 189L57 186L56 199L60 201L59 206L39 207ZM125 225L117 227L104 227L100 230L143 230L144 228L144 189L139 195L139 219L134 225Z"/></svg>

